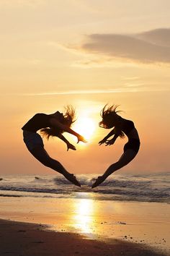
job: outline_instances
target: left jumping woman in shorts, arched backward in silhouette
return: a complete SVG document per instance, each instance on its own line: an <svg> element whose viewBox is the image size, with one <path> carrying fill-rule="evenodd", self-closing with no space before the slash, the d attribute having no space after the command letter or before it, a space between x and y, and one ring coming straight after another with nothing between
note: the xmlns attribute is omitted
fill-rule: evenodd
<svg viewBox="0 0 170 256"><path fill-rule="evenodd" d="M86 142L84 137L74 132L71 129L71 124L73 124L75 116L75 110L71 106L66 107L66 114L56 111L54 114L35 114L26 124L22 127L24 143L27 146L27 149L30 153L42 163L44 166L48 166L55 171L58 171L60 174L72 182L76 186L81 187L79 182L76 180L76 177L73 174L70 174L66 169L61 165L60 162L51 158L50 155L46 152L42 137L37 133L40 130L42 135L45 135L48 139L50 136L58 137L67 145L67 150L76 150L76 147L72 145L66 138L63 136L63 132L68 132L71 135L77 137L78 142Z"/></svg>

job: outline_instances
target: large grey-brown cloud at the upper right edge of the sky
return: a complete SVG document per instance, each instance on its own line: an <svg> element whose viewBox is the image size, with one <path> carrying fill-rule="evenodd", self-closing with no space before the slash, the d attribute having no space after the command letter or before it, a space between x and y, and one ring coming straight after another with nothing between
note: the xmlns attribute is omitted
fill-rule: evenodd
<svg viewBox="0 0 170 256"><path fill-rule="evenodd" d="M170 63L170 28L133 35L91 34L76 48L88 54L101 54L109 60L141 63Z"/></svg>

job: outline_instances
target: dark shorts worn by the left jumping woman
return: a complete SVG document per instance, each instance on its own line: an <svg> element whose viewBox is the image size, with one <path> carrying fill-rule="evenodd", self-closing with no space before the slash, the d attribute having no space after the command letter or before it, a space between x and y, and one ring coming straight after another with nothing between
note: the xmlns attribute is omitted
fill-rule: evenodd
<svg viewBox="0 0 170 256"><path fill-rule="evenodd" d="M42 137L37 132L23 131L24 143L29 151L32 151L37 146L44 147Z"/></svg>

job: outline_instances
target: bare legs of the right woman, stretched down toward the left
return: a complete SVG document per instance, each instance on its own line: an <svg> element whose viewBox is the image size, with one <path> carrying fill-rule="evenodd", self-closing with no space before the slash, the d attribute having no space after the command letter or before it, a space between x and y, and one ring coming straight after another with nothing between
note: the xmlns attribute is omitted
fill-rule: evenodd
<svg viewBox="0 0 170 256"><path fill-rule="evenodd" d="M130 163L130 161L132 161L133 158L135 158L136 154L137 153L134 150L130 150L130 149L126 150L125 153L121 155L120 159L116 163L113 163L111 166L109 166L109 168L107 168L104 174L97 178L96 182L94 182L91 188L99 186L99 184L104 182L104 180L107 179L107 177L110 174L114 173L115 171L119 170L123 166L126 166L128 163Z"/></svg>

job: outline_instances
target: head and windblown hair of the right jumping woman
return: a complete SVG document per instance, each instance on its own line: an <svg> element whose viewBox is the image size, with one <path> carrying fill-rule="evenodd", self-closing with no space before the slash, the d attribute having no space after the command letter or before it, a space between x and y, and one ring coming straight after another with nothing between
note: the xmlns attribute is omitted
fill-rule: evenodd
<svg viewBox="0 0 170 256"><path fill-rule="evenodd" d="M122 132L122 127L120 126L120 116L117 114L121 112L117 110L119 105L108 106L107 104L102 108L100 112L100 116L102 117L102 121L99 122L99 127L110 129L115 127L115 133L117 133L121 138L124 138L125 135Z"/></svg>

